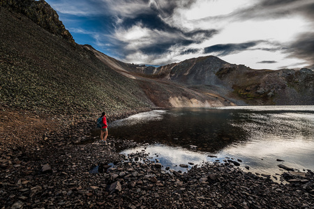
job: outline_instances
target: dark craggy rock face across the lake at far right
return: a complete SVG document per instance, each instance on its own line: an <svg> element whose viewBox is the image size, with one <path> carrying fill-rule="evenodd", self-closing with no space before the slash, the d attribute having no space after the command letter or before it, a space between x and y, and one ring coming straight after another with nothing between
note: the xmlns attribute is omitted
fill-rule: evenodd
<svg viewBox="0 0 314 209"><path fill-rule="evenodd" d="M252 70L243 65L220 68L217 77L233 89L230 95L248 104L314 104L314 72Z"/></svg>

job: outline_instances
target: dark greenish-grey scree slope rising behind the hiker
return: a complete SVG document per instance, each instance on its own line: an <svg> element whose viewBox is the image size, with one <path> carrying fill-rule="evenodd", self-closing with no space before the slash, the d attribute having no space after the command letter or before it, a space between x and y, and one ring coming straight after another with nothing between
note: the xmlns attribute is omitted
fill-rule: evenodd
<svg viewBox="0 0 314 209"><path fill-rule="evenodd" d="M132 79L89 50L0 7L1 105L74 114L153 105Z"/></svg>

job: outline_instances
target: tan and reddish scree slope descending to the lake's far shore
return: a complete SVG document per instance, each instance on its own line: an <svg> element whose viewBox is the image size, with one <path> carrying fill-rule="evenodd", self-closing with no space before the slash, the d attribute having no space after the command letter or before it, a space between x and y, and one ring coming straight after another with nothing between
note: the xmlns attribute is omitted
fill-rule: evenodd
<svg viewBox="0 0 314 209"><path fill-rule="evenodd" d="M165 75L171 71L171 66L160 68L152 66L134 65L118 61L107 56L89 45L84 45L91 50L105 65L116 70L121 75L133 79L140 85L147 97L157 107L212 107L234 105L226 98L216 94L215 91L199 91L188 88L185 84L166 79Z"/></svg>

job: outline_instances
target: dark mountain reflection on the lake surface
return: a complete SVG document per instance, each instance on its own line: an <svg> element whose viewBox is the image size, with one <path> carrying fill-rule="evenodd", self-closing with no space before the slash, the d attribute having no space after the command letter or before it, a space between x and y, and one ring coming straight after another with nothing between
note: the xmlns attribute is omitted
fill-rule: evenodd
<svg viewBox="0 0 314 209"><path fill-rule="evenodd" d="M156 114L155 111L151 112ZM160 117L153 120L147 115L138 114L134 118L140 120L117 121L110 124L110 134L122 139L133 139L137 142L160 143L168 146L190 148L197 146L197 150L217 152L229 144L246 141L248 134L230 121L239 121L237 114L217 109L172 109L160 112ZM160 115L159 115L160 116ZM128 123L130 122L130 123ZM124 123L121 127L117 124Z"/></svg>

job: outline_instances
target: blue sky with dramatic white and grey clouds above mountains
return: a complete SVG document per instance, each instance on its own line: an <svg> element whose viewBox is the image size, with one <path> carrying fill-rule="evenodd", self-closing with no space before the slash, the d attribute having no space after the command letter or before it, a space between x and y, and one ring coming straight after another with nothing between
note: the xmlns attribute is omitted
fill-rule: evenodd
<svg viewBox="0 0 314 209"><path fill-rule="evenodd" d="M218 56L314 69L314 0L46 0L75 42L126 63Z"/></svg>

